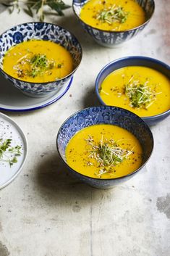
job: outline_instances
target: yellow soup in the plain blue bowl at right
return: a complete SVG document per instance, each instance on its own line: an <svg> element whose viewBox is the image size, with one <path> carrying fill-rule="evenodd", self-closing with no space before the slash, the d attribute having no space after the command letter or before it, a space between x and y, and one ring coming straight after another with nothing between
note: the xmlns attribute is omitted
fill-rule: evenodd
<svg viewBox="0 0 170 256"><path fill-rule="evenodd" d="M103 80L100 96L140 117L158 115L170 109L170 80L149 67L122 67Z"/></svg>

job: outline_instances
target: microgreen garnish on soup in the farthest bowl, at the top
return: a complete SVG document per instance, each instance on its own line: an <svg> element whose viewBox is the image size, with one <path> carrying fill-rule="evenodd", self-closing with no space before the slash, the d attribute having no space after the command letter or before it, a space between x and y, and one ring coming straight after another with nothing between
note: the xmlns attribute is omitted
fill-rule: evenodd
<svg viewBox="0 0 170 256"><path fill-rule="evenodd" d="M102 22L107 22L109 24L114 22L124 23L127 20L128 15L129 12L125 12L122 7L114 4L112 7L101 10L96 18L97 20L101 20Z"/></svg>

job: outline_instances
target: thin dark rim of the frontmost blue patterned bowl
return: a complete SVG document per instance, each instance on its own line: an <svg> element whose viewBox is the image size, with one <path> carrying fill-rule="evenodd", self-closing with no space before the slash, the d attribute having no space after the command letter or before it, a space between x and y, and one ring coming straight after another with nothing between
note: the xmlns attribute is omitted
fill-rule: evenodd
<svg viewBox="0 0 170 256"><path fill-rule="evenodd" d="M128 174L125 175L125 176L121 176L121 177L117 177L117 178L94 178L94 177L86 176L86 175L84 175L84 174L82 174L82 173L79 173L77 170L72 169L72 168L67 164L67 162L64 161L63 157L61 157L61 154L60 154L60 152L59 152L59 146L58 146L59 133L60 133L61 128L63 127L63 125L64 125L65 123L67 123L67 121L68 121L70 118L74 117L74 115L77 115L78 113L80 113L80 112L82 112L82 111L89 110L89 109L93 109L93 108L101 108L101 109L104 108L104 109L106 109L107 107L109 107L109 108L111 107L111 108L114 108L114 109L116 108L116 109L118 109L118 110L125 110L125 112L129 112L130 115L135 115L135 117L137 117L137 119L139 119L140 121L142 121L142 123L145 125L145 128L147 129L148 133L150 133L150 138L151 138L151 141L152 141L152 147L151 147L150 154L149 154L148 158L145 160L145 162L144 162L139 168L137 168L136 170L134 170L132 173L128 173ZM92 125L89 125L89 126L92 126ZM88 127L89 127L89 126L88 126ZM81 131L81 130L82 130L82 129L80 129L79 131ZM79 132L79 131L77 131L77 132ZM76 134L76 133L75 133L75 134ZM74 136L75 136L75 135L74 135ZM152 131L150 130L150 127L148 126L148 124L145 123L145 121L144 121L141 117L139 117L139 116L136 115L135 113L133 113L133 112L131 112L131 111L129 111L129 110L126 110L126 109L124 109L124 108L122 108L122 107L114 107L114 106L109 106L109 105L106 105L106 106L97 106L97 107L95 107L95 106L93 106L93 107L86 107L85 109L77 110L77 112L74 112L72 115L70 115L69 117L67 117L67 119L61 124L61 126L60 126L60 128L59 128L59 131L58 131L58 133L57 133L57 135L56 135L56 149L57 149L57 151L58 151L58 153L59 153L59 157L60 157L60 159L62 160L62 162L64 162L64 164L67 165L67 168L69 168L70 170L72 170L73 173L76 173L76 174L78 174L78 175L80 175L80 176L83 176L83 177L85 177L85 178L90 178L90 179L92 179L92 180L94 180L94 181L113 181L113 180L119 180L119 179L121 179L121 178L127 178L127 177L129 177L129 176L132 176L133 174L137 173L140 169L142 169L142 168L146 165L146 163L147 163L148 160L150 159L151 155L153 154L153 147L154 147L153 133L152 133Z"/></svg>

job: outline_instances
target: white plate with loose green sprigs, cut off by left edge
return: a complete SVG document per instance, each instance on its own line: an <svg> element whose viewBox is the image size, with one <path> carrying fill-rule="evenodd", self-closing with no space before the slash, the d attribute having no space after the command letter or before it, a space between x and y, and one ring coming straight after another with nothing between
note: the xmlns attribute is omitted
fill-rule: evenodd
<svg viewBox="0 0 170 256"><path fill-rule="evenodd" d="M3 162L0 159L0 189L2 189L12 182L22 170L27 157L27 141L22 129L17 123L2 113L0 113L0 139L2 141L12 139L11 146L21 146L21 155L17 156L17 162L12 166L9 165L9 162ZM7 156L9 157L9 154Z"/></svg>

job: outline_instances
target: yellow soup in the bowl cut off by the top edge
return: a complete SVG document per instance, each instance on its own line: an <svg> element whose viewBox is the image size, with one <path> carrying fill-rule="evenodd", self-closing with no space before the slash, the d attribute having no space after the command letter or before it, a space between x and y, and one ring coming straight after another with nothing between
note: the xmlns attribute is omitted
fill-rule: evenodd
<svg viewBox="0 0 170 256"><path fill-rule="evenodd" d="M129 30L145 22L145 12L135 0L90 0L80 12L83 22L101 30Z"/></svg>

